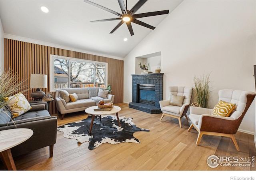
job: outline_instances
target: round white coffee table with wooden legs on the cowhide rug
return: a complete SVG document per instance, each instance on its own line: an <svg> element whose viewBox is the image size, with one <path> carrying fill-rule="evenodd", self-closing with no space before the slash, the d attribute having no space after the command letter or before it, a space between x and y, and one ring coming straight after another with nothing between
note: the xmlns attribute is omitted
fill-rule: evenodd
<svg viewBox="0 0 256 180"><path fill-rule="evenodd" d="M94 109L96 109L96 108L98 108L98 106L92 106L92 107L87 108L87 109L85 110L85 112L86 112L87 114L92 114L92 122L91 122L91 126L90 126L89 133L91 133L91 131L92 131L92 125L93 125L93 121L94 121L95 115L96 115L96 116L98 115L98 116L100 116L100 118L101 118L102 115L108 115L108 114L114 114L114 113L116 113L116 118L117 118L117 120L118 120L118 125L121 126L120 120L119 120L119 117L118 117L118 112L121 110L121 108L120 108L119 106L113 106L112 110L110 110L110 111L94 110Z"/></svg>

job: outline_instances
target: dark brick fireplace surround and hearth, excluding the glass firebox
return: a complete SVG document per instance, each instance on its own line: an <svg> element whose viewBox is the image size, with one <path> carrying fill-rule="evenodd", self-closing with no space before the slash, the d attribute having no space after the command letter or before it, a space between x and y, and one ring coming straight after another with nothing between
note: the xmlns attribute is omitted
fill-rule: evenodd
<svg viewBox="0 0 256 180"><path fill-rule="evenodd" d="M159 101L163 100L163 80L164 73L150 74L131 74L132 76L132 102L129 103L130 108L148 112L151 114L161 113ZM154 84L155 85L155 105L151 106L139 102L139 85Z"/></svg>

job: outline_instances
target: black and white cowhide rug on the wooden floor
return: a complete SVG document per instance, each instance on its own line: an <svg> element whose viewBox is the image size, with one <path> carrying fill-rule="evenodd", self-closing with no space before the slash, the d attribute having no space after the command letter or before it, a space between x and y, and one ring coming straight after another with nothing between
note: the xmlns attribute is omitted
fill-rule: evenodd
<svg viewBox="0 0 256 180"><path fill-rule="evenodd" d="M119 119L121 127L118 126L116 116L102 116L101 121L100 116L95 116L91 134L89 134L89 129L92 121L92 115L89 115L88 118L82 121L59 126L57 130L63 132L63 136L65 138L77 139L80 143L89 141L88 148L90 150L103 143L140 143L138 139L134 138L133 133L137 131L149 131L147 129L136 127L134 122L132 122L132 118L119 117Z"/></svg>

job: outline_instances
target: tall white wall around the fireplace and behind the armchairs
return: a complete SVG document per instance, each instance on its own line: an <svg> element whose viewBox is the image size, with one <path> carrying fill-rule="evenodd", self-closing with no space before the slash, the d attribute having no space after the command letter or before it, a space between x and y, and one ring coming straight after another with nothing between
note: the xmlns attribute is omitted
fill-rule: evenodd
<svg viewBox="0 0 256 180"><path fill-rule="evenodd" d="M194 76L210 74L213 88L210 108L218 90L255 92L256 1L184 0L124 58L124 102L132 102L135 57L161 52L164 99L168 86L193 86ZM255 103L240 131L254 134Z"/></svg>

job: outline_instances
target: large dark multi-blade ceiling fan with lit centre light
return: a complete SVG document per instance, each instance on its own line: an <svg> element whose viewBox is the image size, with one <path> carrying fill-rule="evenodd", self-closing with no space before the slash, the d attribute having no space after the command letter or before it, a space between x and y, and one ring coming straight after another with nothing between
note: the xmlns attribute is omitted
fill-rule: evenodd
<svg viewBox="0 0 256 180"><path fill-rule="evenodd" d="M117 28L119 28L124 22L126 23L128 29L130 31L131 36L134 35L134 32L132 30L131 22L133 22L135 24L139 24L141 26L144 26L146 28L150 28L150 29L153 30L155 28L154 26L146 24L146 23L144 23L144 22L142 22L140 20L137 20L137 18L144 18L144 17L149 17L149 16L158 16L158 15L168 14L169 13L169 10L162 10L162 11L154 11L154 12L146 12L146 13L135 14L141 8L141 6L143 4L145 4L145 2L147 2L147 0L139 0L137 2L137 4L135 4L130 10L127 10L127 0L126 0L126 6L125 6L123 0L118 0L119 6L120 6L120 8L122 10L122 14L120 14L118 12L115 12L113 10L110 10L108 8L105 8L103 6L100 6L99 4L96 4L96 3L88 1L88 0L84 0L84 2L119 16L118 18L90 21L90 22L104 22L104 21L121 20L117 24L117 26L110 32L110 34L112 34L115 30L117 30Z"/></svg>

